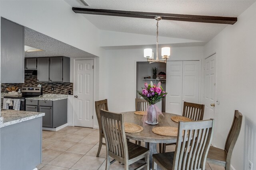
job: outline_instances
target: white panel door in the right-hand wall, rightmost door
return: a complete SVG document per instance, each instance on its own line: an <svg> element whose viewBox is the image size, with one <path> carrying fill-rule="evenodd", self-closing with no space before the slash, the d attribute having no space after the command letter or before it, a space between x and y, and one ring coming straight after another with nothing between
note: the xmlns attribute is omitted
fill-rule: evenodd
<svg viewBox="0 0 256 170"><path fill-rule="evenodd" d="M204 63L204 119L214 118L216 92L216 54L205 59Z"/></svg>

